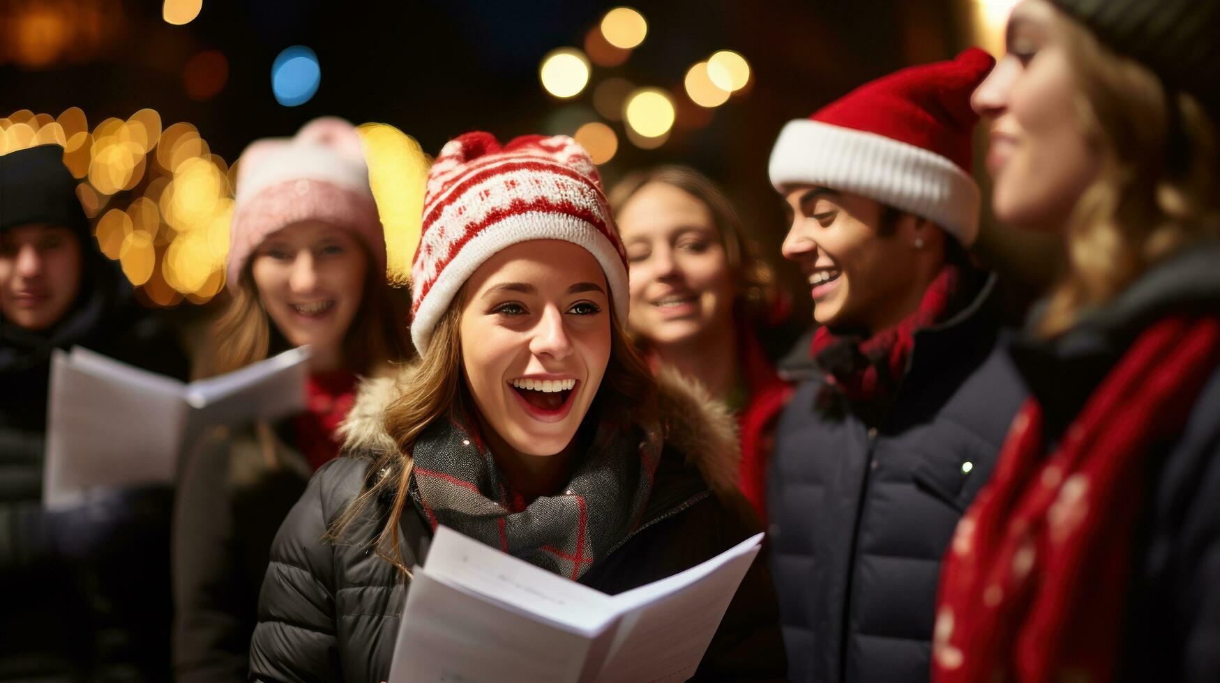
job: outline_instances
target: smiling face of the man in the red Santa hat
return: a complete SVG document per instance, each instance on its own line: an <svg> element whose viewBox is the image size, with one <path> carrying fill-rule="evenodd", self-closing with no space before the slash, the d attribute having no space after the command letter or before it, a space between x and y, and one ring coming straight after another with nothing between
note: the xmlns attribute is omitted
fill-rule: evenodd
<svg viewBox="0 0 1220 683"><path fill-rule="evenodd" d="M808 279L820 324L876 332L919 302L911 216L883 226L880 202L814 185L787 188L784 200L793 220L783 256ZM928 232L922 239L933 237Z"/></svg>

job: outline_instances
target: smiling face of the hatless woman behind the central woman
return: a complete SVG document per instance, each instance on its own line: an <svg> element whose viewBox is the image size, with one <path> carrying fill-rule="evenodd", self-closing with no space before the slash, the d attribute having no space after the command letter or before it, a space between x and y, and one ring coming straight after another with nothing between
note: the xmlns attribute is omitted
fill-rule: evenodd
<svg viewBox="0 0 1220 683"><path fill-rule="evenodd" d="M617 216L631 265L633 332L683 344L732 326L736 288L711 211L666 183L640 188Z"/></svg>

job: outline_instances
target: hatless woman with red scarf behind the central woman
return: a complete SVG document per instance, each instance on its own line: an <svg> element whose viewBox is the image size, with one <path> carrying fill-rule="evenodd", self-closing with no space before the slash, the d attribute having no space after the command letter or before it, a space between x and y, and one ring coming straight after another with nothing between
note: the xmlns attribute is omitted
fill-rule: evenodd
<svg viewBox="0 0 1220 683"><path fill-rule="evenodd" d="M772 352L791 335L770 266L725 193L684 166L630 174L610 194L631 266L630 332L654 367L700 383L738 420L739 485L765 518L775 421L791 388Z"/></svg>

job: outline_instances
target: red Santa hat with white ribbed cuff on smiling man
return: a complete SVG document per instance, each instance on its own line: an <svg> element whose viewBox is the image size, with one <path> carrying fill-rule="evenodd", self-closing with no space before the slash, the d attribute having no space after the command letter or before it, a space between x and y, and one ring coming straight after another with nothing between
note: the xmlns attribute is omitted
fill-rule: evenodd
<svg viewBox="0 0 1220 683"><path fill-rule="evenodd" d="M789 121L771 150L771 184L822 185L927 218L969 245L978 234L970 176L970 95L996 60L971 48L904 68Z"/></svg>

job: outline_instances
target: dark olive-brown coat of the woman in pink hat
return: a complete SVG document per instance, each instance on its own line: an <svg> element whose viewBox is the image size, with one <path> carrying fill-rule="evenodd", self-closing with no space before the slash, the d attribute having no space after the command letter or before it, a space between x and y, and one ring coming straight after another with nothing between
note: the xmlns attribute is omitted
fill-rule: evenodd
<svg viewBox="0 0 1220 683"><path fill-rule="evenodd" d="M271 542L314 470L292 418L217 427L182 465L173 515L173 673L245 681Z"/></svg>

